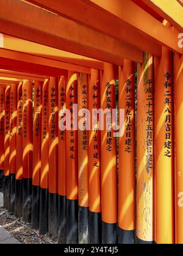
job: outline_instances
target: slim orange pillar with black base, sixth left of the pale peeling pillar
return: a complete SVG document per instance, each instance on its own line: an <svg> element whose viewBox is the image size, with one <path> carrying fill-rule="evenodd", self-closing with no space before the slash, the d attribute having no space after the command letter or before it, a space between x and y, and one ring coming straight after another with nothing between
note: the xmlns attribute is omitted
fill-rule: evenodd
<svg viewBox="0 0 183 256"><path fill-rule="evenodd" d="M61 76L59 81L59 163L58 163L58 192L59 192L59 244L66 244L66 165L65 165L65 130L62 126L63 111L66 108L66 77ZM60 123L61 122L61 123Z"/></svg>

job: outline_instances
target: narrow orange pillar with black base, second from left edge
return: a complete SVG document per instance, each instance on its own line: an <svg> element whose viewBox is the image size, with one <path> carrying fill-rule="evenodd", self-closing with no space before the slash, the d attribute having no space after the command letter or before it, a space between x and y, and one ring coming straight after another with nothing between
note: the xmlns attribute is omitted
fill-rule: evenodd
<svg viewBox="0 0 183 256"><path fill-rule="evenodd" d="M10 195L10 86L5 88L4 122L4 208L9 208Z"/></svg>

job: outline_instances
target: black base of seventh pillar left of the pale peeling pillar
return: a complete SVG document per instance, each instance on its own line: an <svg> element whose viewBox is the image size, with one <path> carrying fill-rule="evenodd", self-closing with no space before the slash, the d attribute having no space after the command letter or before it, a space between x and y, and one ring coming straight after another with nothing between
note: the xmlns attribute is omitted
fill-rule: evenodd
<svg viewBox="0 0 183 256"><path fill-rule="evenodd" d="M58 194L49 193L48 232L51 238L58 237Z"/></svg>

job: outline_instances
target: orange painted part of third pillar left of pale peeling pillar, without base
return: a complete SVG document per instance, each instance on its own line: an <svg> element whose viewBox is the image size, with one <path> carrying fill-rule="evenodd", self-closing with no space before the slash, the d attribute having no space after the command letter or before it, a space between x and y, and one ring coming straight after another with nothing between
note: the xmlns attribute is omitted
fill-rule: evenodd
<svg viewBox="0 0 183 256"><path fill-rule="evenodd" d="M99 70L91 70L91 78L88 86L88 109L100 107L100 76ZM98 124L99 125L99 124ZM101 212L101 144L98 126L95 130L88 131L88 202L89 210L94 213Z"/></svg>

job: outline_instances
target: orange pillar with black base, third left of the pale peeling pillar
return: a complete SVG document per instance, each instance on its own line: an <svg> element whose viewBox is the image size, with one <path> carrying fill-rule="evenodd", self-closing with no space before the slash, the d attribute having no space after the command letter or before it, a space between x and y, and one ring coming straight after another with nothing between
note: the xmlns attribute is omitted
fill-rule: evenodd
<svg viewBox="0 0 183 256"><path fill-rule="evenodd" d="M88 109L96 114L100 107L99 70L91 69L88 86ZM91 120L90 120L91 122ZM88 203L89 203L89 243L101 243L101 143L99 122L88 131ZM91 124L90 124L91 127Z"/></svg>

